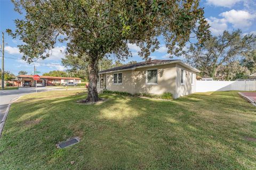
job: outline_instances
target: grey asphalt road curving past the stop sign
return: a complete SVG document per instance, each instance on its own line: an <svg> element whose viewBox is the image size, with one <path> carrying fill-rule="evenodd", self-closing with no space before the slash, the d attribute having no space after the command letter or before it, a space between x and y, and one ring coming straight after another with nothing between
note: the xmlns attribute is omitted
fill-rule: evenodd
<svg viewBox="0 0 256 170"><path fill-rule="evenodd" d="M56 90L56 88L37 87L37 92ZM22 87L19 90L0 90L0 122L11 100L22 95L36 92L35 87Z"/></svg>

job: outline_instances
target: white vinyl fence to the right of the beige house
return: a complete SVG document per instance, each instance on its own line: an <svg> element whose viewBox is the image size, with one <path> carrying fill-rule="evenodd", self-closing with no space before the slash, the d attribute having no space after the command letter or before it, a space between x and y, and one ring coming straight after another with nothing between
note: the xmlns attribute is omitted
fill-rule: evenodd
<svg viewBox="0 0 256 170"><path fill-rule="evenodd" d="M229 90L256 91L256 81L196 81L196 92Z"/></svg>

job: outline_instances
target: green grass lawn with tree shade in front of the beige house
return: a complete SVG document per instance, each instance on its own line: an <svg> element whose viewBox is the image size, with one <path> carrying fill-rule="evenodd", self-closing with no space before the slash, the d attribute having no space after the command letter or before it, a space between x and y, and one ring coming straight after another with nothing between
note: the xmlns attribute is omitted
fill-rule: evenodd
<svg viewBox="0 0 256 170"><path fill-rule="evenodd" d="M85 97L50 91L13 104L0 169L256 169L256 141L247 139L256 138L256 107L235 91L75 102ZM55 147L76 136L76 145Z"/></svg>

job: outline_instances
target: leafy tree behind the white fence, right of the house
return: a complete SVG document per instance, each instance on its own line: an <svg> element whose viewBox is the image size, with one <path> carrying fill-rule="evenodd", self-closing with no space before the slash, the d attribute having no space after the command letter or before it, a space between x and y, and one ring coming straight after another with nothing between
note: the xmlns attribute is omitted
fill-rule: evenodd
<svg viewBox="0 0 256 170"><path fill-rule="evenodd" d="M221 36L205 41L203 46L199 43L190 45L184 55L187 63L201 71L201 77L225 77L226 80L232 80L237 77L236 74L250 74L246 62L241 65L240 60L241 57L250 58L247 56L252 56L255 48L256 35L244 36L241 30L224 31Z"/></svg>

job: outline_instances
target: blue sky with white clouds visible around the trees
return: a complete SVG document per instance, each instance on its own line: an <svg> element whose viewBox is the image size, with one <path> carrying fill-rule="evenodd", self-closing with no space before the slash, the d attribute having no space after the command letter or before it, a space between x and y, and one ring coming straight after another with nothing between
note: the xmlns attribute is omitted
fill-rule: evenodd
<svg viewBox="0 0 256 170"><path fill-rule="evenodd" d="M213 35L219 35L223 30L235 29L241 29L243 33L256 34L256 0L202 0L201 7L204 7L205 18L211 25L210 30ZM5 31L7 28L14 30L13 20L17 18L22 19L22 16L13 10L13 4L8 0L0 0L0 31ZM2 44L2 34L0 39ZM5 71L17 75L23 70L31 74L34 65L41 74L51 70L65 70L65 67L61 65L61 58L64 57L61 51L65 51L65 44L57 44L50 58L27 64L20 60L21 54L17 45L22 42L19 39L12 39L5 33L5 43L7 43L5 45ZM133 54L129 61L142 61L137 54L140 49L133 44L129 44L129 47ZM154 59L168 59L168 56L164 44L161 44L161 48L151 54Z"/></svg>

